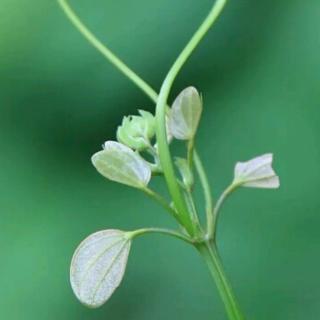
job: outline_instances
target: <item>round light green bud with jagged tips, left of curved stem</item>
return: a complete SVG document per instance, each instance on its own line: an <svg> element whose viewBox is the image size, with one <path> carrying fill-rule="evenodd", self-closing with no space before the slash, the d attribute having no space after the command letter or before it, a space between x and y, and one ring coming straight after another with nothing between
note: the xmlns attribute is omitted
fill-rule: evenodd
<svg viewBox="0 0 320 320"><path fill-rule="evenodd" d="M155 135L155 117L147 111L139 110L140 116L124 117L117 130L117 140L126 146L142 151L150 147Z"/></svg>

